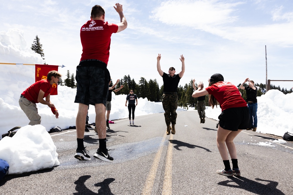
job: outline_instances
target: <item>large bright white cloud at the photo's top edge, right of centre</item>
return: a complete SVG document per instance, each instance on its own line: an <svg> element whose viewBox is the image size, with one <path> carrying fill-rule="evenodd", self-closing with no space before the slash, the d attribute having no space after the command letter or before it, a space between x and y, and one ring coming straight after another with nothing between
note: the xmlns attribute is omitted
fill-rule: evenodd
<svg viewBox="0 0 293 195"><path fill-rule="evenodd" d="M207 25L223 25L237 20L232 13L242 3L212 1L166 1L153 11L151 18L169 25L186 25L205 30Z"/></svg>

